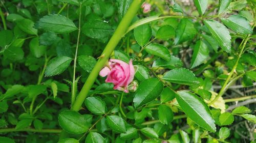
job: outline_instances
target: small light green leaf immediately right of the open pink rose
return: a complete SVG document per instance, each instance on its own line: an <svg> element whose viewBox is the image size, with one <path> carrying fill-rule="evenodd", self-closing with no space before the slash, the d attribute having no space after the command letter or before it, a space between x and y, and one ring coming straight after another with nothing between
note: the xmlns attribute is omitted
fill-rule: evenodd
<svg viewBox="0 0 256 143"><path fill-rule="evenodd" d="M150 73L148 72L148 69L146 67L142 65L135 65L134 67L136 68L135 77L139 81L144 81L145 79L150 78Z"/></svg>

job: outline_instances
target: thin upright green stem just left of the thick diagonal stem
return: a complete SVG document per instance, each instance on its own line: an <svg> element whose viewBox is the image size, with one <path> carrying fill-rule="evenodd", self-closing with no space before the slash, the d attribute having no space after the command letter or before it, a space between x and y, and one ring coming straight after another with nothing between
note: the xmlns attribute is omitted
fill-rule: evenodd
<svg viewBox="0 0 256 143"><path fill-rule="evenodd" d="M78 35L77 35L77 42L76 42L76 52L75 52L75 58L74 58L74 70L73 70L73 81L72 81L72 94L71 94L71 106L74 104L76 99L76 60L77 60L77 50L78 50L78 44L80 39L80 32L81 32L81 5L79 7L79 25L78 25Z"/></svg>

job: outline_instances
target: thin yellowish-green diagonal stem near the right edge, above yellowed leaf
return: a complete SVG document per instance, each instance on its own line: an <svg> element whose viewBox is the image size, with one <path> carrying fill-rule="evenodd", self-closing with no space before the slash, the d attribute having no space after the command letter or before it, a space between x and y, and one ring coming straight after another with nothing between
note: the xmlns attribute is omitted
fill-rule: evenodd
<svg viewBox="0 0 256 143"><path fill-rule="evenodd" d="M241 55L242 55L242 53L243 53L243 51L244 51L245 45L246 45L246 43L247 43L249 37L250 37L250 35L247 35L246 38L245 38L245 40L244 40L244 42L243 42L243 44L241 44L241 45L239 46L240 52L239 52L237 61L236 61L236 63L234 64L234 66L233 66L233 68L231 69L231 71L229 72L228 77L227 77L227 79L225 80L224 84L222 85L222 88L221 88L221 90L220 90L218 96L208 104L209 106L210 106L211 104L213 104L215 101L217 101L217 100L226 92L226 90L227 90L227 88L226 88L226 87L227 87L227 84L228 84L230 78L232 77L234 71L236 70L236 68L237 68L237 66L238 66L238 62L239 62L239 60L240 60L240 58L241 58ZM242 47L241 47L241 46L242 46Z"/></svg>

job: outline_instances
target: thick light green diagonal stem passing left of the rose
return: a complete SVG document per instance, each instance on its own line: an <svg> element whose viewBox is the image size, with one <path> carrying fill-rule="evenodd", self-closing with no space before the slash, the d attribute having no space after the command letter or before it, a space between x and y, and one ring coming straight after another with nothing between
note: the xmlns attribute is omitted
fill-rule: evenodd
<svg viewBox="0 0 256 143"><path fill-rule="evenodd" d="M105 49L103 50L98 62L94 66L91 74L87 78L86 82L84 83L80 93L77 96L75 103L72 106L72 109L78 111L81 108L81 105L86 99L95 79L98 77L99 71L105 65L105 63L109 60L111 53L117 46L118 42L121 40L127 28L129 27L130 23L132 22L134 16L137 14L141 6L142 0L133 1L130 8L127 10L126 14L124 15L123 19L119 23L115 33L111 37L109 43L106 45Z"/></svg>

